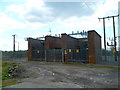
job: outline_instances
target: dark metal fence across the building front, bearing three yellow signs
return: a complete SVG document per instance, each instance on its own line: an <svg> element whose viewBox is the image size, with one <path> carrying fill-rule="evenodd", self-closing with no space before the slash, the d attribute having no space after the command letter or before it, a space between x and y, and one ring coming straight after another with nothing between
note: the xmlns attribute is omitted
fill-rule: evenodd
<svg viewBox="0 0 120 90"><path fill-rule="evenodd" d="M46 62L88 62L87 49L32 50L32 60Z"/></svg>

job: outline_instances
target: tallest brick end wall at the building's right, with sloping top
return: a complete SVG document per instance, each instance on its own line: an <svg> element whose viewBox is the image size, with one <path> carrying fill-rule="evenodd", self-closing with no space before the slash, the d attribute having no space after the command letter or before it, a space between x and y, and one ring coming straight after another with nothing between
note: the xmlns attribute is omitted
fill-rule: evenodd
<svg viewBox="0 0 120 90"><path fill-rule="evenodd" d="M99 62L102 60L101 55L101 36L94 30L88 31L88 62Z"/></svg>

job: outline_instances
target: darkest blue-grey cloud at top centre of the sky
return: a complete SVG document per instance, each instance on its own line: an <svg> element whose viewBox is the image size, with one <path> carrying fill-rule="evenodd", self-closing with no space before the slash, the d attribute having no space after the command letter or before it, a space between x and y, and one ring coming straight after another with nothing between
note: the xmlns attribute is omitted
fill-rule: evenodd
<svg viewBox="0 0 120 90"><path fill-rule="evenodd" d="M56 17L68 18L71 16L88 16L94 12L90 12L89 8L81 2L49 2L46 3L47 6L53 8L53 15Z"/></svg>

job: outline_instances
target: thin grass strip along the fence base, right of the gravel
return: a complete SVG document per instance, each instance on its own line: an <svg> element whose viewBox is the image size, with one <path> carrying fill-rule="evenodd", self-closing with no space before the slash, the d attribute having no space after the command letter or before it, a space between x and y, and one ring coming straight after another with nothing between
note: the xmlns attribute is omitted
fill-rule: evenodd
<svg viewBox="0 0 120 90"><path fill-rule="evenodd" d="M77 63L77 62L65 62L64 64L67 65L75 65L75 66L80 66L80 67L88 67L88 68L106 68L106 69L120 69L120 67L112 67L112 66L95 66L95 65L87 65L83 63Z"/></svg>

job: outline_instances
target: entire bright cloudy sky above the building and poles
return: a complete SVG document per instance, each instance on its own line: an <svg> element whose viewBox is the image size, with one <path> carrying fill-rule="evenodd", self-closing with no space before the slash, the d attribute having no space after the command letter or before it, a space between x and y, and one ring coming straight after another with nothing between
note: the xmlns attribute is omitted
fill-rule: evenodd
<svg viewBox="0 0 120 90"><path fill-rule="evenodd" d="M20 50L27 50L24 38L48 35L50 28L52 35L96 30L103 40L103 23L98 17L118 15L118 0L64 1L0 0L0 50L13 50L13 34L16 50L18 42ZM118 36L117 18L115 23ZM106 34L107 39L113 37L112 19L106 19Z"/></svg>

